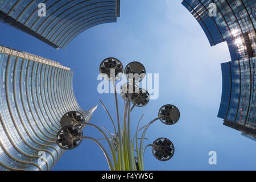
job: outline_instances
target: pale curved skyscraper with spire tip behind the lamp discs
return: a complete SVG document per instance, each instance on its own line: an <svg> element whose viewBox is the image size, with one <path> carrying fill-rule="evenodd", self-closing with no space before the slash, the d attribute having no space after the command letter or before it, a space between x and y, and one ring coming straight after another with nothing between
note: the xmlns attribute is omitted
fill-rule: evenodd
<svg viewBox="0 0 256 182"><path fill-rule="evenodd" d="M0 46L0 170L49 170L63 155L56 144L60 119L94 109L77 104L70 68Z"/></svg>

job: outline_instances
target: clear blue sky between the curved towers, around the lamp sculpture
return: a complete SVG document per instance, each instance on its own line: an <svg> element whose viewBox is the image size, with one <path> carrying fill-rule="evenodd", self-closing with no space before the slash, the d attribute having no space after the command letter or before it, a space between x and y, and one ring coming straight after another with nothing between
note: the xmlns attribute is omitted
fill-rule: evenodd
<svg viewBox="0 0 256 182"><path fill-rule="evenodd" d="M230 60L228 46L221 43L210 47L199 23L180 0L121 1L117 23L90 28L64 50L49 47L2 23L0 32L0 44L71 68L73 87L82 109L100 104L100 98L114 118L114 95L97 92L101 61L117 57L124 67L131 61L140 61L147 73L159 73L159 98L133 110L132 131L141 114L145 114L141 122L144 125L156 118L165 104L177 106L181 116L173 126L158 121L148 129L146 137L150 140L145 143L166 137L174 143L175 154L171 160L160 162L147 149L146 170L255 170L255 142L222 125L222 119L217 118L222 89L220 64ZM122 98L118 98L122 105ZM90 122L113 132L101 106ZM84 135L102 138L89 127L84 129ZM217 165L208 164L209 151L217 152ZM83 140L75 150L66 151L53 170L108 170L108 164L95 143Z"/></svg>

